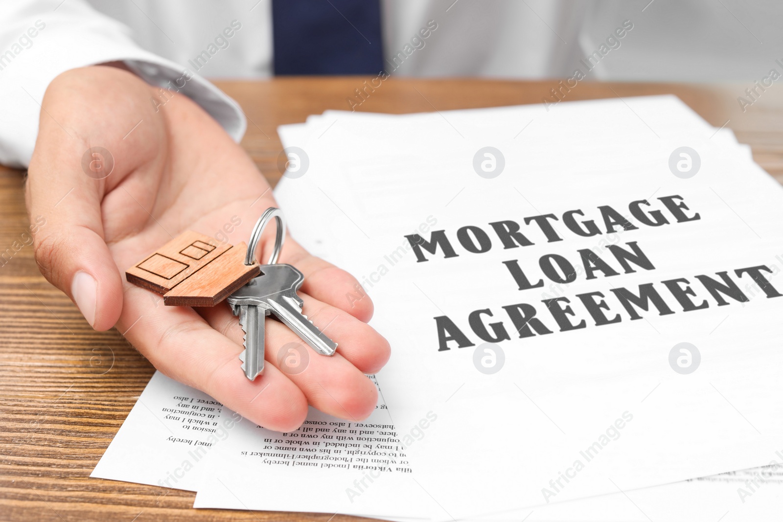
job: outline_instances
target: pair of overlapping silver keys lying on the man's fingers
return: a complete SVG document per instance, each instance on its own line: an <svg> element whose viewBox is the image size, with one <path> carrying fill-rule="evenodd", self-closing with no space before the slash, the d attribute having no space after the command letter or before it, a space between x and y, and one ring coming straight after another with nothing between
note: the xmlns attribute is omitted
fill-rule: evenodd
<svg viewBox="0 0 783 522"><path fill-rule="evenodd" d="M228 302L234 315L240 315L240 323L245 332L245 351L240 359L244 362L245 376L253 380L263 371L264 364L264 326L261 311L265 315L272 313L296 333L301 340L309 344L321 355L334 355L337 343L316 328L301 312L304 301L297 290L305 276L291 265L261 265L261 274L250 283L232 293ZM254 310L255 309L255 310ZM252 323L258 317L260 326ZM251 367L250 359L253 360ZM254 370L258 367L258 373Z"/></svg>

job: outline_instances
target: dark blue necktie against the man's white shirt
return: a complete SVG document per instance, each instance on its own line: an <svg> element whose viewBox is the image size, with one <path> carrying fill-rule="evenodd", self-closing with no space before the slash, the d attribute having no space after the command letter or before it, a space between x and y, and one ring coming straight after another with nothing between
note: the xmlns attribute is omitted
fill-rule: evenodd
<svg viewBox="0 0 783 522"><path fill-rule="evenodd" d="M379 0L272 0L275 74L378 74Z"/></svg>

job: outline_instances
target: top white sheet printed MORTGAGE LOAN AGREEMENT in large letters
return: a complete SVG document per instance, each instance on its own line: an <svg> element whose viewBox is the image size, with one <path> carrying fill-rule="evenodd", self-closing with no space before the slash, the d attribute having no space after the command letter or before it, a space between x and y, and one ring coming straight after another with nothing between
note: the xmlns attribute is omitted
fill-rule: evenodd
<svg viewBox="0 0 783 522"><path fill-rule="evenodd" d="M511 509L774 458L781 390L773 361L780 355L769 325L781 304L735 271L760 265L774 270L781 188L746 157L711 143L715 131L703 122L700 128L692 113L687 121L690 111L678 113L679 104L655 98L575 103L568 113L526 106L485 111L481 121L461 111L443 122L445 129L453 127L452 135L417 125L417 117L383 124L356 118L345 126L337 118L334 124L324 121L332 124L327 132L316 129L294 144L307 151L309 171L286 183L331 191L343 214L330 227L341 263L377 280L368 290L377 304L375 324L395 347L379 380L399 430L415 426L428 411L438 413L431 436L410 453L425 470L420 483L450 516L480 514L476 494L491 495L499 510ZM526 139L514 146L513 129L531 121ZM601 121L613 125L579 124ZM594 131L586 132L590 126ZM669 169L670 153L684 142L701 156L700 173L687 179ZM351 143L350 157L338 143ZM471 163L487 143L505 151L503 173L492 179L477 175ZM394 151L394 162L378 158L379 150ZM393 182L377 188L378 179L392 176ZM351 196L341 198L344 191ZM319 207L330 206L322 200ZM640 200L649 200L642 219L631 215ZM688 210L673 207L684 212L677 216L667 202ZM628 216L629 227L608 230L612 218L602 207ZM576 214L578 224L594 221L603 231L573 232L565 218L572 211L583 212ZM653 221L644 218L651 211L667 223L644 224ZM533 221L545 214L553 214L546 221L554 224L549 232L555 240ZM532 220L526 224L525 218ZM518 225L532 244L504 247L490 223L503 223L506 230ZM431 234L441 230L445 240L435 253L419 252L426 262L404 247L406 236L417 231L432 247ZM633 265L630 272L607 248L637 252L629 243L654 268ZM611 268L593 267L590 279L581 272L573 282L555 283L539 267L542 257L553 255L583 265L579 250L593 249ZM531 285L540 279L542 286L518 290L524 285L504 261L514 261ZM696 278L723 282L718 272L730 271L734 285L747 286L742 295L749 301L715 299ZM666 308L631 315L612 292L639 295L640 286L650 284ZM684 295L694 297L692 304ZM595 315L586 298L593 300ZM557 299L559 315L545 299ZM503 307L518 304L536 311L540 331L520 328L520 313L514 324L514 309ZM471 314L477 326L471 326ZM478 347L511 333L496 343L503 369L489 376L477 371ZM454 338L440 350L439 337ZM683 342L702 354L698 371L687 376L669 365L670 351ZM466 426L471 441L514 451L488 453L480 445L461 448L460 459L449 458L456 441L444 441ZM460 483L455 477L465 470L471 481Z"/></svg>

